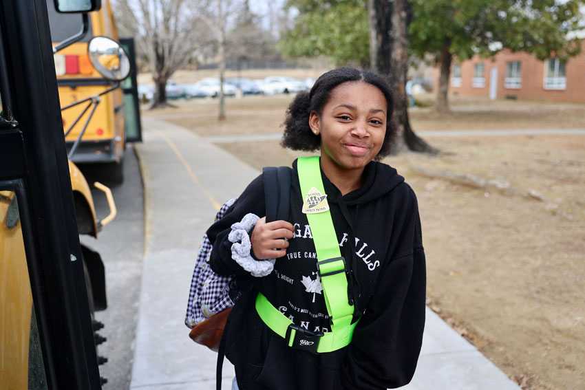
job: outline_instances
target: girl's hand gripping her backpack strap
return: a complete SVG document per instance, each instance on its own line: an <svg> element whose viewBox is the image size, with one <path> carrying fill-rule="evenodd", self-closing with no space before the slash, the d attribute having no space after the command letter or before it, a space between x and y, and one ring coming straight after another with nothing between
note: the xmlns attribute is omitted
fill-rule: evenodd
<svg viewBox="0 0 585 390"><path fill-rule="evenodd" d="M278 259L286 254L288 241L294 235L295 227L287 221L266 223L266 217L258 219L252 230L252 250L256 259ZM275 249L276 248L276 249Z"/></svg>

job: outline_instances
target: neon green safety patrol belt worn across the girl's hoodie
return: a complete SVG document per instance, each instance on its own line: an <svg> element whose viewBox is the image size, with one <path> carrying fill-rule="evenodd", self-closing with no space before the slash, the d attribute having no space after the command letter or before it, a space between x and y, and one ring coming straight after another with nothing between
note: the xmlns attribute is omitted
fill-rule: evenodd
<svg viewBox="0 0 585 390"><path fill-rule="evenodd" d="M331 352L349 345L357 325L357 321L352 324L354 307L348 302L349 269L339 251L321 180L319 157L299 158L297 171L304 196L303 213L307 215L317 250L317 272L332 320L331 332L310 332L295 325L261 293L256 298L256 311L270 329L288 341L290 347L313 353Z"/></svg>

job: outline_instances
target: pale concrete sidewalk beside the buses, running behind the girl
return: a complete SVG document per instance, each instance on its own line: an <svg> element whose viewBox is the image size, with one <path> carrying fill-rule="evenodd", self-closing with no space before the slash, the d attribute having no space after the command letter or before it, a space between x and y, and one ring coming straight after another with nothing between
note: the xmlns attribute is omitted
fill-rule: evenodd
<svg viewBox="0 0 585 390"><path fill-rule="evenodd" d="M215 206L259 172L191 131L143 118L135 148L145 185L145 258L131 389L214 389L214 352L189 339L183 319L200 239ZM222 389L233 367L224 363ZM407 390L518 390L507 376L427 309L423 351Z"/></svg>

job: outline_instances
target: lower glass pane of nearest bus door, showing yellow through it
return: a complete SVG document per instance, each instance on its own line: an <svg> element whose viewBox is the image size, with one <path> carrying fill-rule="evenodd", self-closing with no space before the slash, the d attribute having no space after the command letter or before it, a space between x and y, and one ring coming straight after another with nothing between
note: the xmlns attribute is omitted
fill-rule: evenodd
<svg viewBox="0 0 585 390"><path fill-rule="evenodd" d="M0 378L4 389L47 389L17 196L0 188Z"/></svg>

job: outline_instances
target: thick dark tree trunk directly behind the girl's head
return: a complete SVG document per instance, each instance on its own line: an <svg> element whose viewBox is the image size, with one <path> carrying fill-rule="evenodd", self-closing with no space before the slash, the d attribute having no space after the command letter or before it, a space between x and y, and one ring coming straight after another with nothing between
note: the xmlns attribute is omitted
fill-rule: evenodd
<svg viewBox="0 0 585 390"><path fill-rule="evenodd" d="M408 71L408 25L412 7L408 0L368 0L371 66L387 75L394 90L394 115L398 136L393 153L404 149L437 153L412 130L408 119L406 77Z"/></svg>

